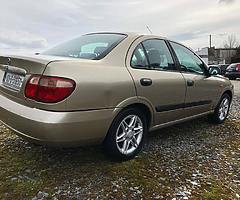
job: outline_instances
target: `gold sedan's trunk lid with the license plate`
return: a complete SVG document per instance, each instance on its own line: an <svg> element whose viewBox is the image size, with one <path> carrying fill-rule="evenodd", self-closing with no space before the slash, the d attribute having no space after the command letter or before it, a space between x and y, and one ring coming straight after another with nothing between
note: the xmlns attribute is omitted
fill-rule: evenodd
<svg viewBox="0 0 240 200"><path fill-rule="evenodd" d="M45 55L0 56L0 94L34 107L34 103L25 98L27 80L32 74L42 75L49 63L63 60L72 59Z"/></svg>

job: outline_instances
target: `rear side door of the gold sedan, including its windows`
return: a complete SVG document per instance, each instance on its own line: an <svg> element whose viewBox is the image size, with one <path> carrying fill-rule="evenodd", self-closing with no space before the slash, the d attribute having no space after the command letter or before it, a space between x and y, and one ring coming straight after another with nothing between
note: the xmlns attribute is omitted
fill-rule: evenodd
<svg viewBox="0 0 240 200"><path fill-rule="evenodd" d="M154 110L154 125L182 118L185 80L163 39L142 37L135 41L128 53L127 67L138 98Z"/></svg>

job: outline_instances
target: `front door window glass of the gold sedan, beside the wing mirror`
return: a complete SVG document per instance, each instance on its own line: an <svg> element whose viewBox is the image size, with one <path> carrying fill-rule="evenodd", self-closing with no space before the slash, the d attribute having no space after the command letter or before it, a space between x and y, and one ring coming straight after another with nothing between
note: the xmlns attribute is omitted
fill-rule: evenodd
<svg viewBox="0 0 240 200"><path fill-rule="evenodd" d="M198 74L205 73L203 62L192 51L174 42L170 42L170 44L177 55L182 71Z"/></svg>

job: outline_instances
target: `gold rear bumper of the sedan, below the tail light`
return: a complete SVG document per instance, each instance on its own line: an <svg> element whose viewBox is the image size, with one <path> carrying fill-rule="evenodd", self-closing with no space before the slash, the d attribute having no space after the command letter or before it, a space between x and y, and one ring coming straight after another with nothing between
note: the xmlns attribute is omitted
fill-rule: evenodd
<svg viewBox="0 0 240 200"><path fill-rule="evenodd" d="M114 109L52 112L30 108L0 95L0 121L28 140L52 146L101 143Z"/></svg>

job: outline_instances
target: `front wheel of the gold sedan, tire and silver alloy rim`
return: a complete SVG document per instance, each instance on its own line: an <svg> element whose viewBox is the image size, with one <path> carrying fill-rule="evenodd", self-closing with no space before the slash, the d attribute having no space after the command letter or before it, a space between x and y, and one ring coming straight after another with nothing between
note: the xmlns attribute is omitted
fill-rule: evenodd
<svg viewBox="0 0 240 200"><path fill-rule="evenodd" d="M222 124L228 116L230 106L231 98L228 94L224 94L215 108L214 113L209 116L211 122Z"/></svg>

